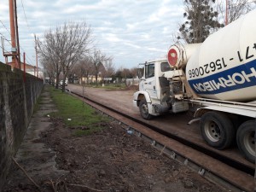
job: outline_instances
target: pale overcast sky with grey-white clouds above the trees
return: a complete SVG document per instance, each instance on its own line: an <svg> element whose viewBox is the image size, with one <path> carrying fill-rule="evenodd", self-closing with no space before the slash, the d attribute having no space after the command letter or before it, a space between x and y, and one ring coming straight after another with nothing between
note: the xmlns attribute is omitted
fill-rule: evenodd
<svg viewBox="0 0 256 192"><path fill-rule="evenodd" d="M183 21L182 0L16 1L20 53L26 52L27 62L32 65L35 65L34 34L43 38L50 27L68 20L86 20L93 30L96 48L113 56L116 68L137 67L140 62L165 55L178 23ZM0 3L0 32L10 39L8 0ZM9 50L9 46L5 42L5 49ZM0 61L4 62L3 54L0 55Z"/></svg>

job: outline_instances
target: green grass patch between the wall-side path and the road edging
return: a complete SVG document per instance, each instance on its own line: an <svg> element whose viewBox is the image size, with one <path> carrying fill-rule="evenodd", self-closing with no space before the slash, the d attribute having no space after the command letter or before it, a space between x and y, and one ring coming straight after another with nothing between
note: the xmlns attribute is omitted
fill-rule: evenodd
<svg viewBox="0 0 256 192"><path fill-rule="evenodd" d="M51 113L53 117L60 117L68 127L85 126L88 129L74 129L74 136L90 135L93 132L101 131L99 123L108 122L106 116L96 113L96 110L84 104L81 100L68 93L62 93L61 90L49 88L50 95L55 102L58 112Z"/></svg>

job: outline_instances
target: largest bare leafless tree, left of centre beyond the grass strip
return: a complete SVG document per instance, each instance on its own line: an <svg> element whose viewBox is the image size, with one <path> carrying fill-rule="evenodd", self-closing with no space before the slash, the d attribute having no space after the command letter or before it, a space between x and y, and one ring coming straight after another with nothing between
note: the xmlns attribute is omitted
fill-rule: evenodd
<svg viewBox="0 0 256 192"><path fill-rule="evenodd" d="M91 44L91 30L85 21L65 22L62 26L56 26L55 30L44 32L44 41L39 44L40 54L53 58L55 64L61 67L63 82L73 66L88 53ZM57 79L57 83L59 79ZM62 84L62 91L65 84Z"/></svg>

